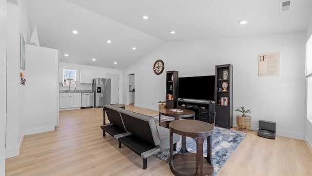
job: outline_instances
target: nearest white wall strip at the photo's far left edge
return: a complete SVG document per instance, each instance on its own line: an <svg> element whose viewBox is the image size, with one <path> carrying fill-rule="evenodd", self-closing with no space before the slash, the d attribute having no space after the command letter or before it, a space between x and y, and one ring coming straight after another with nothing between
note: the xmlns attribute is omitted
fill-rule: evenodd
<svg viewBox="0 0 312 176"><path fill-rule="evenodd" d="M0 0L0 176L5 175L6 129L6 0Z"/></svg>

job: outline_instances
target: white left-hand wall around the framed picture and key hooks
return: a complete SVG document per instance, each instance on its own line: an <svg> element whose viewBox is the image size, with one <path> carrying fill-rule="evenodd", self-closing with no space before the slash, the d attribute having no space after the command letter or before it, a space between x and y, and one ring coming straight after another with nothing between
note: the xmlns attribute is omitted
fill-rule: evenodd
<svg viewBox="0 0 312 176"><path fill-rule="evenodd" d="M19 155L25 130L24 104L27 102L25 86L20 85L20 33L26 43L29 35L25 0L8 0L7 16L6 157L12 157Z"/></svg>

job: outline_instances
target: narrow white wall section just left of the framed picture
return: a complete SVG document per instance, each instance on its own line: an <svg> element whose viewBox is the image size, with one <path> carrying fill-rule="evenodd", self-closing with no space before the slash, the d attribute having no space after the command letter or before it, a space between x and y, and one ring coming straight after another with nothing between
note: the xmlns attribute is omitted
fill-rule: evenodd
<svg viewBox="0 0 312 176"><path fill-rule="evenodd" d="M6 157L19 155L19 90L20 90L19 7L7 4L7 129Z"/></svg>

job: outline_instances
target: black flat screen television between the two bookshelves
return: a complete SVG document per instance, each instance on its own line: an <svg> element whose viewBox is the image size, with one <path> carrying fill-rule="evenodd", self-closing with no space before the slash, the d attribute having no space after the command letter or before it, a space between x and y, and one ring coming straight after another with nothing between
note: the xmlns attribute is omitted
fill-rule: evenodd
<svg viewBox="0 0 312 176"><path fill-rule="evenodd" d="M178 78L178 98L215 99L215 75Z"/></svg>

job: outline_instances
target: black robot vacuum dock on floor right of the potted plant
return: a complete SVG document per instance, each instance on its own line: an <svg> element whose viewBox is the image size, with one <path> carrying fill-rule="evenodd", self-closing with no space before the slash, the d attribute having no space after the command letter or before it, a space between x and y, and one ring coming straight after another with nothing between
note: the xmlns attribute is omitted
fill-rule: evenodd
<svg viewBox="0 0 312 176"><path fill-rule="evenodd" d="M276 122L259 120L258 136L275 139Z"/></svg>

